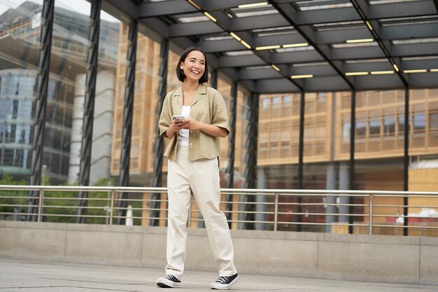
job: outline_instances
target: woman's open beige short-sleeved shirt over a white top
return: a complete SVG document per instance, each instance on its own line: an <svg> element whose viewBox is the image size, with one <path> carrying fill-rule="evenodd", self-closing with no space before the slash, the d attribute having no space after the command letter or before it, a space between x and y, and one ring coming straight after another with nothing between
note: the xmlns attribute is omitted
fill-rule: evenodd
<svg viewBox="0 0 438 292"><path fill-rule="evenodd" d="M166 131L172 123L172 116L181 113L183 108L183 87L169 92L164 98L163 109L160 115L160 135L167 137ZM218 90L209 88L204 84L199 84L196 96L190 106L190 118L199 122L222 127L227 132L228 114L225 106L225 100ZM172 137L169 146L167 146L164 156L169 160L176 160L176 139L178 135ZM190 130L189 132L189 160L212 159L217 158L220 154L219 137L213 137L199 130Z"/></svg>

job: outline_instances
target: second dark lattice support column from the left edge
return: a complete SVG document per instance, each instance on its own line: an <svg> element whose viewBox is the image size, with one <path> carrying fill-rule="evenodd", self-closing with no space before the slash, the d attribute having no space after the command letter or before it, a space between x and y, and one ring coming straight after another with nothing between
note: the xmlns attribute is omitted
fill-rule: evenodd
<svg viewBox="0 0 438 292"><path fill-rule="evenodd" d="M91 1L90 13L90 48L87 56L87 79L85 81L85 102L80 145L79 186L90 186L91 146L93 142L94 99L96 97L97 58L99 56L99 31L100 31L101 0ZM88 192L80 191L78 194L78 210L76 223L85 223L87 215Z"/></svg>

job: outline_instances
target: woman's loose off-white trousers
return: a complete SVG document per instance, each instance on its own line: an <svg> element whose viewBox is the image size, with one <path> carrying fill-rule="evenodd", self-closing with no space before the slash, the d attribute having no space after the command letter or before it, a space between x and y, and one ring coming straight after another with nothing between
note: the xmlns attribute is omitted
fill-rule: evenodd
<svg viewBox="0 0 438 292"><path fill-rule="evenodd" d="M219 276L236 274L234 249L227 218L219 209L220 182L217 159L188 160L188 147L178 146L176 161L168 160L166 274L181 280L184 272L187 220L191 193L204 217L210 248Z"/></svg>

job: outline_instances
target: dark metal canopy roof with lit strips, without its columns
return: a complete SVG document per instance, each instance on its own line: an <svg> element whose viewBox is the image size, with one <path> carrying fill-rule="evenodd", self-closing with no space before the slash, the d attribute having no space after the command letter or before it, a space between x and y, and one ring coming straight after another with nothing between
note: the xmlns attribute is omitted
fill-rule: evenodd
<svg viewBox="0 0 438 292"><path fill-rule="evenodd" d="M405 69L438 68L438 60L416 60L411 57L436 56L435 43L395 43L438 37L436 0L374 5L366 0L339 1L335 8L305 9L317 6L311 1L270 0L260 8L237 8L250 0L174 0L168 2L105 0L109 11L123 11L139 19L156 39L169 38L181 48L201 46L213 67L225 72L250 91L259 94L281 92L320 92L437 87L436 74L402 73ZM342 6L351 4L351 6ZM270 11L266 15L245 15L252 11ZM209 13L216 22L182 22L181 17L199 17ZM428 22L424 22L428 18ZM386 25L397 22L397 25ZM369 23L369 26L367 25ZM328 29L327 29L328 28ZM336 29L332 29L336 28ZM260 34L262 29L273 33ZM276 34L282 29L287 34ZM250 46L232 39L210 36L237 34ZM291 32L297 32L295 34ZM374 39L376 46L338 46L351 39ZM309 43L311 50L255 50L256 47ZM228 52L250 51L249 55ZM404 58L410 58L404 60ZM373 62L362 62L372 60ZM350 62L360 61L360 62ZM279 71L271 68L276 65ZM296 67L295 64L300 64ZM385 76L346 76L349 71L393 70ZM263 67L264 66L264 67ZM260 69L248 69L260 67ZM291 80L290 75L313 74L309 80ZM419 76L421 75L421 76Z"/></svg>

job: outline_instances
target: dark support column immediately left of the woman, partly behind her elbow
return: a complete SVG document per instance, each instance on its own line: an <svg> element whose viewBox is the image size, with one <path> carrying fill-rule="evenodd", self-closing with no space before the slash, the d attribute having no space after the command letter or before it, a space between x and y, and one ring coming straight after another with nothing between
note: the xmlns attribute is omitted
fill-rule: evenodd
<svg viewBox="0 0 438 292"><path fill-rule="evenodd" d="M163 167L163 153L164 153L164 141L160 136L160 127L158 127L158 119L160 119L160 113L163 108L164 97L167 92L167 64L169 62L169 39L163 39L160 44L160 71L158 77L160 83L158 84L158 97L157 110L155 111L155 117L157 119L157 126L155 127L155 144L154 144L154 173L150 186L153 188L162 187L162 167ZM150 225L158 226L160 221L160 193L152 194L152 201L150 202Z"/></svg>

